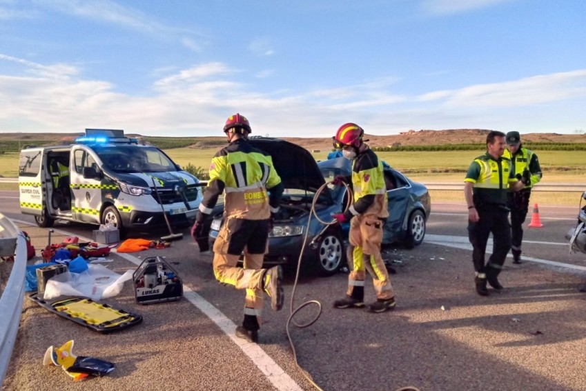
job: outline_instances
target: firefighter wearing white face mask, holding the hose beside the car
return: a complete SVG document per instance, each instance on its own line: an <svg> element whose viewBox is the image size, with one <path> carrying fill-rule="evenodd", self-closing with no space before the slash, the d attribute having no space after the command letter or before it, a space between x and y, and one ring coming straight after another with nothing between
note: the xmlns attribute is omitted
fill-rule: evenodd
<svg viewBox="0 0 586 391"><path fill-rule="evenodd" d="M364 143L363 136L364 130L360 126L345 123L333 137L334 148L342 150L343 156L352 161L354 192L349 210L333 215L339 223L350 220L348 259L353 260L346 297L335 301L334 307L364 307L364 279L368 270L377 297L374 303L368 305L368 309L371 312L384 312L395 307L395 292L380 254L382 227L389 217L387 188L384 185L382 162Z"/></svg>

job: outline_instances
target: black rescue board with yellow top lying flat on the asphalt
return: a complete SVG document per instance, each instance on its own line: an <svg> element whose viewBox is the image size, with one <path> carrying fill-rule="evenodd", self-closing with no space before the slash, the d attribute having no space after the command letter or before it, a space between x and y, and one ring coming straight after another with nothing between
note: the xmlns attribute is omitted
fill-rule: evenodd
<svg viewBox="0 0 586 391"><path fill-rule="evenodd" d="M142 321L141 315L110 307L106 303L88 297L67 297L66 299L50 301L34 293L30 294L28 298L60 317L104 334L123 330Z"/></svg>

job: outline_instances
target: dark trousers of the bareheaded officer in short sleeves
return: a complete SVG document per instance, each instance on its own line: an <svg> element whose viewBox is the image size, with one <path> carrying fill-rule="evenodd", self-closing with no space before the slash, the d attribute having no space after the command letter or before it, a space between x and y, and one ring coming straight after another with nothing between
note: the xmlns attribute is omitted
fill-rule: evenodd
<svg viewBox="0 0 586 391"><path fill-rule="evenodd" d="M472 262L477 274L486 274L488 279L497 277L511 249L511 224L509 211L502 206L477 209L480 220L468 221L468 239L472 244ZM487 241L492 232L493 248L485 264Z"/></svg>

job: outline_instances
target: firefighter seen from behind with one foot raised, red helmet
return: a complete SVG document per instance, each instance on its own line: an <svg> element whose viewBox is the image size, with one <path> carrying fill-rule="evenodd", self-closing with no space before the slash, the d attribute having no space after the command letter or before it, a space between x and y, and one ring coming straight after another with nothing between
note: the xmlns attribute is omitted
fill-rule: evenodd
<svg viewBox="0 0 586 391"><path fill-rule="evenodd" d="M283 272L280 266L262 269L271 214L278 212L283 185L271 156L248 143L251 126L242 114L229 117L224 126L229 145L215 154L210 180L191 230L200 251L207 250L210 214L224 193L224 225L214 243L213 269L217 281L246 289L244 321L237 337L258 341L262 323L263 291L273 310L283 306ZM237 267L244 252L244 268Z"/></svg>

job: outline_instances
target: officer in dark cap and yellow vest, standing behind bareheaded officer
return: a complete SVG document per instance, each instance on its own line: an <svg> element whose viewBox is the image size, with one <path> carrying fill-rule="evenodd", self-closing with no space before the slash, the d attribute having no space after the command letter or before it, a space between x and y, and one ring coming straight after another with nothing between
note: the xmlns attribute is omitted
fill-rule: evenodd
<svg viewBox="0 0 586 391"><path fill-rule="evenodd" d="M502 156L511 159L513 174L525 177L527 185L519 192L509 191L508 205L511 210L511 253L513 263L521 263L521 244L523 241L523 223L529 210L531 188L541 180L542 173L535 152L523 148L519 132L507 133L507 150Z"/></svg>

